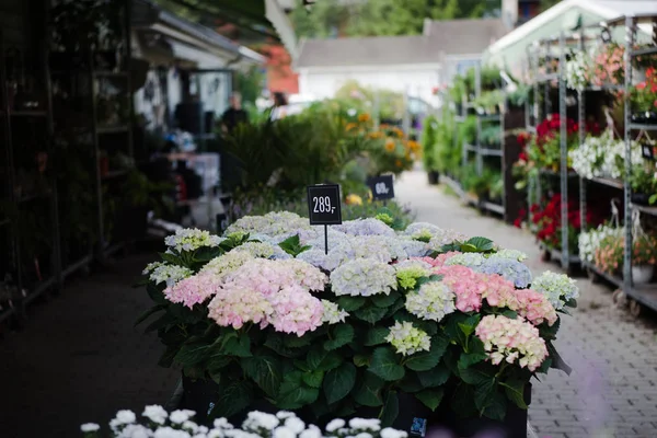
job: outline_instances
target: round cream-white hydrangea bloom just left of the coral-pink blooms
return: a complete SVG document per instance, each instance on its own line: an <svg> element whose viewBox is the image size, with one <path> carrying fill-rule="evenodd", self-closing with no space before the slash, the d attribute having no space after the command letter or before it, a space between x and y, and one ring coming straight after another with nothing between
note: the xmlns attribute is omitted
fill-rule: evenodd
<svg viewBox="0 0 657 438"><path fill-rule="evenodd" d="M425 283L406 296L406 310L422 320L440 322L457 310L456 296L440 281Z"/></svg>

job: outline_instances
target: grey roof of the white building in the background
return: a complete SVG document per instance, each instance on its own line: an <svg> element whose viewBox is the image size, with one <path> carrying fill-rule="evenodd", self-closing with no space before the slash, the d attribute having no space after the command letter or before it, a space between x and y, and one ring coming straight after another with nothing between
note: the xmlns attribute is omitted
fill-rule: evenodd
<svg viewBox="0 0 657 438"><path fill-rule="evenodd" d="M499 19L449 20L425 24L414 36L303 41L296 68L439 64L445 55L479 55L504 35Z"/></svg>

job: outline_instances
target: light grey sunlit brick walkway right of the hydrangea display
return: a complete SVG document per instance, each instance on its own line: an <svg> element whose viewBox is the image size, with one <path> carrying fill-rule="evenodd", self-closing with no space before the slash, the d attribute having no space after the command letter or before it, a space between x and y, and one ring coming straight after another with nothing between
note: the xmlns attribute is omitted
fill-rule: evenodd
<svg viewBox="0 0 657 438"><path fill-rule="evenodd" d="M534 274L554 264L540 261L533 237L463 207L442 187L427 185L424 172L404 174L395 194L417 220L484 235L529 255ZM556 346L573 367L570 376L552 370L533 383L530 422L540 437L657 437L657 315L633 320L613 307L611 289L578 278L581 298L564 318Z"/></svg>

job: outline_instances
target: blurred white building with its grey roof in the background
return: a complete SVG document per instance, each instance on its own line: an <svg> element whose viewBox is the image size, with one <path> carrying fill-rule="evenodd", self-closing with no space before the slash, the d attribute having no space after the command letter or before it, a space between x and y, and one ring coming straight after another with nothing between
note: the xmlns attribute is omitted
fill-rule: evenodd
<svg viewBox="0 0 657 438"><path fill-rule="evenodd" d="M439 106L434 90L476 62L506 28L499 19L425 21L418 36L308 39L293 64L299 92L332 97L345 82L408 92Z"/></svg>

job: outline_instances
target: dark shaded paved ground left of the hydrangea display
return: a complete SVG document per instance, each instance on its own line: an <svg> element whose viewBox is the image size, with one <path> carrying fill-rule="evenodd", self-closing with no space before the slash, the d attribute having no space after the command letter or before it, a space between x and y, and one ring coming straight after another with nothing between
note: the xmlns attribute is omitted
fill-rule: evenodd
<svg viewBox="0 0 657 438"><path fill-rule="evenodd" d="M80 437L82 423L106 426L120 408L166 403L178 374L158 367L157 334L134 327L151 300L132 285L152 258L74 279L0 338L0 437Z"/></svg>

